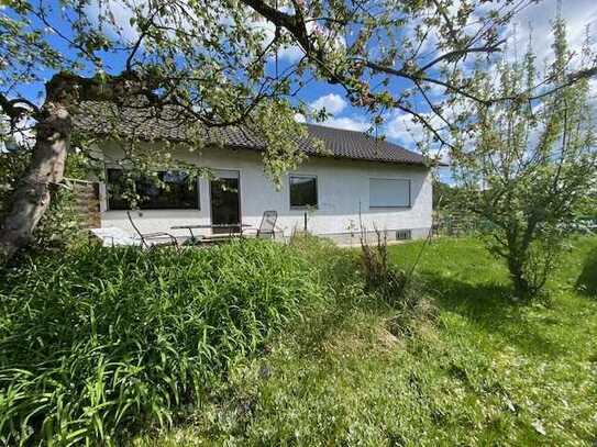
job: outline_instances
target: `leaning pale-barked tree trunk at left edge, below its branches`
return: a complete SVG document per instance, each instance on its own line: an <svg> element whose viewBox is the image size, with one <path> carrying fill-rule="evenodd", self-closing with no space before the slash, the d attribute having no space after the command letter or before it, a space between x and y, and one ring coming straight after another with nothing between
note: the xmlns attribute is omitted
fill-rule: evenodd
<svg viewBox="0 0 597 447"><path fill-rule="evenodd" d="M36 125L33 158L12 195L12 208L0 226L0 265L24 247L49 205L51 186L63 180L71 121L58 102L46 102Z"/></svg>

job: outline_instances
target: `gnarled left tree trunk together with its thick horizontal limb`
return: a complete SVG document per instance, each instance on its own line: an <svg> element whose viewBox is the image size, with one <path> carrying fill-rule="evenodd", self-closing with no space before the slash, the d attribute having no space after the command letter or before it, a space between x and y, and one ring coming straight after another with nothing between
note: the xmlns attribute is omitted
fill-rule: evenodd
<svg viewBox="0 0 597 447"><path fill-rule="evenodd" d="M31 241L35 226L49 205L52 186L63 180L73 133L69 108L80 101L122 102L139 96L155 100L153 90L157 87L133 71L93 78L58 72L52 77L46 83L46 102L35 113L36 142L31 165L12 194L9 214L0 224L0 265ZM0 101L0 107L10 108L11 102Z"/></svg>

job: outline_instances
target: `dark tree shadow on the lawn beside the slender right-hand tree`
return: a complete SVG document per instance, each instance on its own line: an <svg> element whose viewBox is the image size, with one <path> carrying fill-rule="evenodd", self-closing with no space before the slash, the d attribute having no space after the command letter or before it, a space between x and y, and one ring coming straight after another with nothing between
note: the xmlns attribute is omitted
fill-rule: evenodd
<svg viewBox="0 0 597 447"><path fill-rule="evenodd" d="M541 334L542 324L557 321L529 319L529 308L512 301L509 287L490 282L469 283L436 272L424 272L422 279L425 290L435 298L441 310L464 316L479 329L498 335L524 354L550 357L565 354L563 348Z"/></svg>

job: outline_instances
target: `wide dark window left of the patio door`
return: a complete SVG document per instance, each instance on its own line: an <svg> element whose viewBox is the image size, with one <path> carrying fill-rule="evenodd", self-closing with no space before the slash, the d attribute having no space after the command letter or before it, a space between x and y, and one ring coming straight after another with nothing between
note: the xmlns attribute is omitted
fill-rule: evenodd
<svg viewBox="0 0 597 447"><path fill-rule="evenodd" d="M154 179L108 169L107 177L110 210L130 210L135 195L139 197L136 205L142 210L199 209L197 179L189 178L187 172L159 171Z"/></svg>

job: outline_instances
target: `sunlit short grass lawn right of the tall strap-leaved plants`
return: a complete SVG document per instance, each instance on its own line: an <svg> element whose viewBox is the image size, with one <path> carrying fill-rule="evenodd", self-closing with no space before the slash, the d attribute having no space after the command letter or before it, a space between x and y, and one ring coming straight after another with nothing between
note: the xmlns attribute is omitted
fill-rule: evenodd
<svg viewBox="0 0 597 447"><path fill-rule="evenodd" d="M391 258L408 267L420 247L394 246ZM571 242L544 304L513 302L505 268L475 241L434 241L418 271L436 311L408 329L341 280L334 309L235 367L190 420L135 443L595 445L597 238Z"/></svg>

